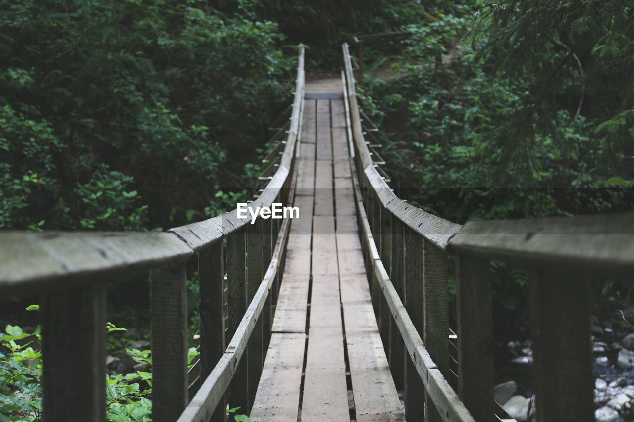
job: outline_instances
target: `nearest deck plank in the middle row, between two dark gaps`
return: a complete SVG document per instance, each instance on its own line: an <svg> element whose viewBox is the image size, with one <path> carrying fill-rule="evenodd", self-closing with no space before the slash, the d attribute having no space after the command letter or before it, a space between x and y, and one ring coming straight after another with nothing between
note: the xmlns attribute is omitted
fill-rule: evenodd
<svg viewBox="0 0 634 422"><path fill-rule="evenodd" d="M339 277L313 275L302 421L350 420Z"/></svg>

